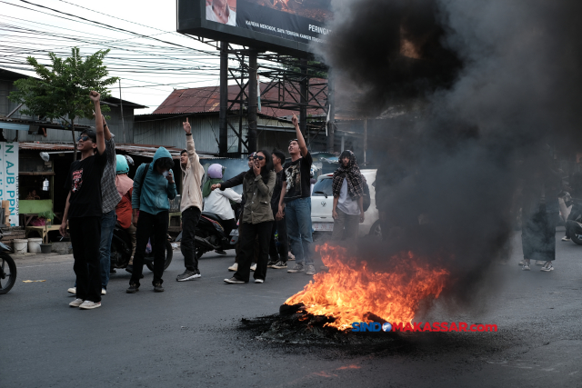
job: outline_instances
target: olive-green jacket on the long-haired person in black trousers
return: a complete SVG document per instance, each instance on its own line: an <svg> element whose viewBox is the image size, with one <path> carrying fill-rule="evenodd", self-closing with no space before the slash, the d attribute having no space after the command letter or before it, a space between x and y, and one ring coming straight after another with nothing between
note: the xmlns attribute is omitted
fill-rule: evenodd
<svg viewBox="0 0 582 388"><path fill-rule="evenodd" d="M243 181L243 192L246 197L243 223L258 224L274 220L271 196L275 188L275 179L274 171L266 175L266 184L262 175L255 176L251 171L246 173Z"/></svg>

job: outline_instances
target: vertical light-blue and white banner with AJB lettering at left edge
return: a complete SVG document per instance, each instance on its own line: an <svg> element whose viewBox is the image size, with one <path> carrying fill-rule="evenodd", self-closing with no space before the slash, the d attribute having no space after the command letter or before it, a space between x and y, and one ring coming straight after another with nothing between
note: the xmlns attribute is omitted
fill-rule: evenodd
<svg viewBox="0 0 582 388"><path fill-rule="evenodd" d="M0 142L0 199L10 204L10 225L18 226L18 143ZM4 224L4 220L0 220Z"/></svg>

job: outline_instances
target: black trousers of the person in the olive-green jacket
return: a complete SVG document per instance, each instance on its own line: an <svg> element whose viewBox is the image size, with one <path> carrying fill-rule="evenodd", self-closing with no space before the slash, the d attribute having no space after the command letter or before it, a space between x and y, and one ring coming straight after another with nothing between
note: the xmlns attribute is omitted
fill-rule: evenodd
<svg viewBox="0 0 582 388"><path fill-rule="evenodd" d="M266 264L269 260L269 238L273 229L273 221L258 224L245 224L240 232L240 257L238 259L238 271L235 277L238 280L248 282L251 274L251 264L255 254L255 240L258 236L259 254L256 262L255 279L266 278Z"/></svg>

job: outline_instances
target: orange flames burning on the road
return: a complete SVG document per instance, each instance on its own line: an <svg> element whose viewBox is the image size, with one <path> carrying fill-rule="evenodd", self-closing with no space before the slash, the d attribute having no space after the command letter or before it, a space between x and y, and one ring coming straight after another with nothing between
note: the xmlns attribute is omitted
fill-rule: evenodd
<svg viewBox="0 0 582 388"><path fill-rule="evenodd" d="M300 293L286 304L304 303L307 313L334 317L326 325L338 330L351 328L353 322L376 314L389 323L410 323L418 304L425 298L438 298L449 272L419 260L412 253L398 254L388 262L390 272L374 272L366 262L347 257L345 248L318 246L328 273L316 274Z"/></svg>

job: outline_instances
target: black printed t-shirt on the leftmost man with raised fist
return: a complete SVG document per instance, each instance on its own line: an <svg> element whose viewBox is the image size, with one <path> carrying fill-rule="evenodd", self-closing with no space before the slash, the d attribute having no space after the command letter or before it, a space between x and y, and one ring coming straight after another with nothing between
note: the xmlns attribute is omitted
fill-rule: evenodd
<svg viewBox="0 0 582 388"><path fill-rule="evenodd" d="M71 191L69 218L101 216L101 175L106 163L104 152L71 164L65 182L65 190Z"/></svg>

